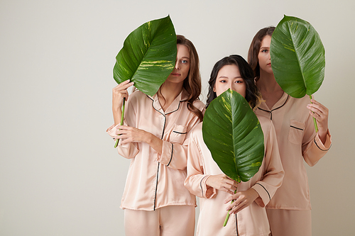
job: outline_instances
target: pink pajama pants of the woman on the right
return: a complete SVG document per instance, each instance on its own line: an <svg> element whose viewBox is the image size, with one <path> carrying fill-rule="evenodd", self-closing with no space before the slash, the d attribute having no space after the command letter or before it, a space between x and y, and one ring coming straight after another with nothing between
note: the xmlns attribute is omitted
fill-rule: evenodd
<svg viewBox="0 0 355 236"><path fill-rule="evenodd" d="M310 210L266 209L272 236L312 236Z"/></svg>

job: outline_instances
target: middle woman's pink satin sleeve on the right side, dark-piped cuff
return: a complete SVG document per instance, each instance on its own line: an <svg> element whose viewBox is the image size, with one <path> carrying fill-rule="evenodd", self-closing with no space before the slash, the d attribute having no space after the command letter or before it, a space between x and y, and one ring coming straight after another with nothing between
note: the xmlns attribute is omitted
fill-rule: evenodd
<svg viewBox="0 0 355 236"><path fill-rule="evenodd" d="M259 197L256 198L256 203L261 207L265 207L271 201L276 190L281 186L285 174L278 150L275 128L272 123L270 123L267 135L264 133L264 139L263 179L252 186L259 194Z"/></svg>

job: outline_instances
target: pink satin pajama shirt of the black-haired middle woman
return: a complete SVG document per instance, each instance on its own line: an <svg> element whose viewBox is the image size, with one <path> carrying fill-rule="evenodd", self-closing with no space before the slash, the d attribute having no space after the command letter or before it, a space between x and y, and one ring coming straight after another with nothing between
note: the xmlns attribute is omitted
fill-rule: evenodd
<svg viewBox="0 0 355 236"><path fill-rule="evenodd" d="M187 179L185 186L200 197L200 216L197 223L198 236L215 235L268 235L269 224L264 206L269 203L283 179L283 167L278 152L278 143L273 124L267 118L258 117L264 133L265 157L259 171L247 182L238 185L238 191L255 189L259 196L250 206L236 215L231 215L226 227L224 204L230 193L207 186L210 175L223 174L212 159L211 152L204 144L202 123L192 131L187 156Z"/></svg>

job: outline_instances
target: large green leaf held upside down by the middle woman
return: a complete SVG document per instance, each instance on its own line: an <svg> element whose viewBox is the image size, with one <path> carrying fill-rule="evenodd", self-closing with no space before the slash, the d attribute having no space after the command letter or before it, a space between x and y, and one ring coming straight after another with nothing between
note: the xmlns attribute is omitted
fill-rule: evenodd
<svg viewBox="0 0 355 236"><path fill-rule="evenodd" d="M264 156L263 130L249 103L228 89L204 113L202 135L219 168L235 181L248 181Z"/></svg>

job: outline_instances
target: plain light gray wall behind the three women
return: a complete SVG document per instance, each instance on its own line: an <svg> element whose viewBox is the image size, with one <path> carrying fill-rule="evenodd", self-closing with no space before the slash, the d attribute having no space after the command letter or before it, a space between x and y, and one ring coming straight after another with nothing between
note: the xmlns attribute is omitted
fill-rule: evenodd
<svg viewBox="0 0 355 236"><path fill-rule="evenodd" d="M203 96L213 64L246 58L253 35L283 15L312 23L326 49L317 100L333 146L307 168L313 235L353 235L352 0L0 1L0 235L124 235L119 208L129 160L112 123L117 52L129 33L170 14L200 55Z"/></svg>

